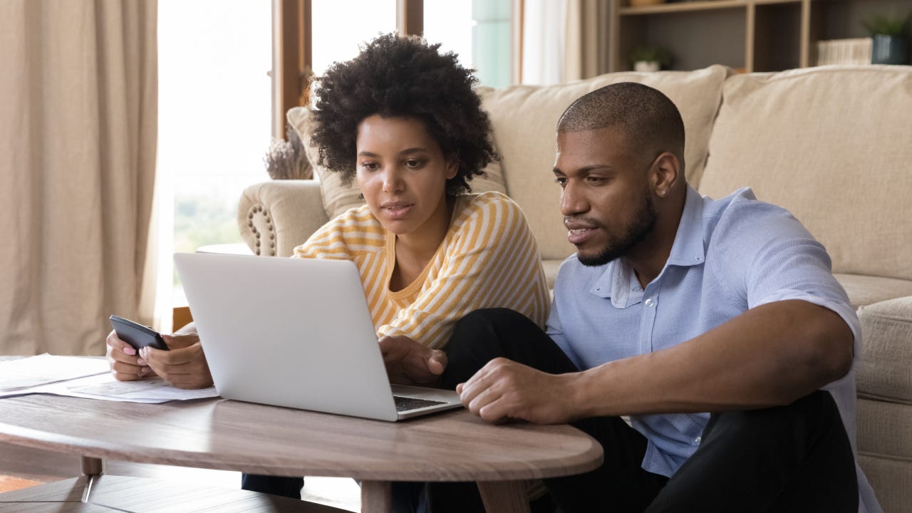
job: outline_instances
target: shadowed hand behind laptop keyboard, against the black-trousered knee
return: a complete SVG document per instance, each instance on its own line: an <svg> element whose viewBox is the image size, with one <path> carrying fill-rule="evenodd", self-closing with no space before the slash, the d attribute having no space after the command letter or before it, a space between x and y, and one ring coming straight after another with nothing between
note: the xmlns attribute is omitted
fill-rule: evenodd
<svg viewBox="0 0 912 513"><path fill-rule="evenodd" d="M430 349L403 335L383 337L379 341L389 382L433 385L447 366L447 355Z"/></svg>

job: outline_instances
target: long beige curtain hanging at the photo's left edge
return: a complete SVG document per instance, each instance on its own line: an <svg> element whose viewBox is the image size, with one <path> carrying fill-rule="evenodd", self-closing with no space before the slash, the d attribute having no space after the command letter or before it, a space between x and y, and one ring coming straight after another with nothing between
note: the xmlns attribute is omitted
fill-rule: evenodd
<svg viewBox="0 0 912 513"><path fill-rule="evenodd" d="M154 0L0 1L0 354L103 354L140 312Z"/></svg>

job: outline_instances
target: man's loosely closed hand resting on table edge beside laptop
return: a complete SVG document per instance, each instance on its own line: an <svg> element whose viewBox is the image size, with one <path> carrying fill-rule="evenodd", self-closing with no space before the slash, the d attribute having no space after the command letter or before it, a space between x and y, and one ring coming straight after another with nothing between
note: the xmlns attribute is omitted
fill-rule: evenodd
<svg viewBox="0 0 912 513"><path fill-rule="evenodd" d="M495 358L456 386L462 404L482 419L500 423L523 419L564 424L579 418L573 408L575 373L548 374L505 358Z"/></svg>

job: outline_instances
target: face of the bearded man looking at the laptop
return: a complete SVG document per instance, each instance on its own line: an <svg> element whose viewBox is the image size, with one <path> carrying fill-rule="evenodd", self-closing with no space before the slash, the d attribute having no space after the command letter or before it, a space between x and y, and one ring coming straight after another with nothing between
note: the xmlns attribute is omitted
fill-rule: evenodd
<svg viewBox="0 0 912 513"><path fill-rule="evenodd" d="M619 127L557 134L554 176L563 189L561 214L583 265L624 257L652 233L650 165L628 148Z"/></svg>

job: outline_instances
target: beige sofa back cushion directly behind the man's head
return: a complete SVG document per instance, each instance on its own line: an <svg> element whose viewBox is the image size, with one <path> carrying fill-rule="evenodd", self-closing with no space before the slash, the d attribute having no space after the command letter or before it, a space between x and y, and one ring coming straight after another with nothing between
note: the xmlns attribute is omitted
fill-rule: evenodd
<svg viewBox="0 0 912 513"><path fill-rule="evenodd" d="M691 183L700 181L712 120L719 109L722 82L730 70L721 66L696 71L610 73L548 87L513 86L479 89L491 115L494 143L503 155L507 194L523 207L542 257L564 259L574 253L558 210L560 188L554 184L557 120L575 99L608 84L634 81L661 90L678 106L687 131L684 150Z"/></svg>

